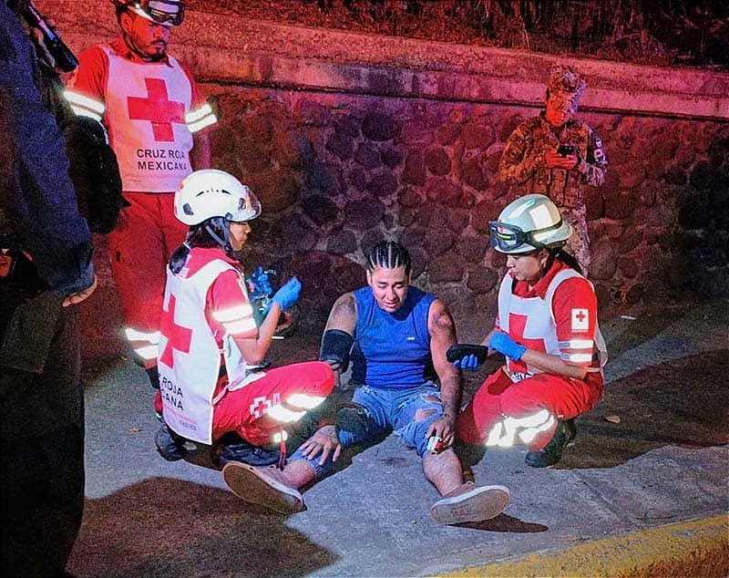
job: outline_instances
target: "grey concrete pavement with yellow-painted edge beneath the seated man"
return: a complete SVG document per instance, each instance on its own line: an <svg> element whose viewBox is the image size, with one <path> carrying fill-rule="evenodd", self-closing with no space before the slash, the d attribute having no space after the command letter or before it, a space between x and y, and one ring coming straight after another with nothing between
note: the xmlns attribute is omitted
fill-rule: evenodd
<svg viewBox="0 0 729 578"><path fill-rule="evenodd" d="M729 304L666 306L603 324L601 404L556 467L490 450L477 482L511 490L498 518L441 526L436 490L399 439L354 455L290 517L238 500L217 470L169 463L144 372L87 366L87 503L79 576L725 575ZM474 336L474 339L477 337ZM461 340L466 340L462 335ZM274 344L272 361L316 355ZM472 395L486 370L469 376ZM609 418L609 419L606 419ZM615 423L618 421L618 423ZM682 565L688 563L688 565Z"/></svg>

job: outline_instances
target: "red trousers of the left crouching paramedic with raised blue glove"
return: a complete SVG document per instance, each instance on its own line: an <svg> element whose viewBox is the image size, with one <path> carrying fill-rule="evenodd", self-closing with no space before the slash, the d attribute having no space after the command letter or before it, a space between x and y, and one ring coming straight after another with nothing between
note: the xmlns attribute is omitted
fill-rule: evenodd
<svg viewBox="0 0 729 578"><path fill-rule="evenodd" d="M212 439L221 439L223 434L234 431L254 446L270 445L273 435L281 432L282 427L286 428L286 424L262 413L271 407L276 394L280 396L282 405L298 410L302 408L286 405L288 397L293 394L327 397L334 389L334 371L323 361L275 367L265 373L265 377L245 387L226 392L215 405Z"/></svg>

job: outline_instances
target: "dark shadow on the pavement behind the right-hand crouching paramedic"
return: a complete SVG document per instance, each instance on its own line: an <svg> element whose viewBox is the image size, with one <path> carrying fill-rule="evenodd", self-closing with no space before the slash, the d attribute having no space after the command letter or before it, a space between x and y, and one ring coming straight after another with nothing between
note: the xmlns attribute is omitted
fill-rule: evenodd
<svg viewBox="0 0 729 578"><path fill-rule="evenodd" d="M611 468L666 445L728 443L727 375L729 350L720 349L609 383L597 408L576 419L577 438L555 468Z"/></svg>

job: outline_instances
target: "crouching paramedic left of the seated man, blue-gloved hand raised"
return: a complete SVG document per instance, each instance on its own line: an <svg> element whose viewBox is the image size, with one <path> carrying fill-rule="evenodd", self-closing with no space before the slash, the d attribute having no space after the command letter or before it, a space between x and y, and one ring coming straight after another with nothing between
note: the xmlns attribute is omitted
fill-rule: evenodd
<svg viewBox="0 0 729 578"><path fill-rule="evenodd" d="M301 291L296 277L283 284L257 325L240 256L260 213L252 191L222 170L196 170L175 195L175 216L190 229L169 261L161 320L156 442L165 459L185 457L183 439L225 445L233 434L257 449L282 449L283 461L289 432L334 388L323 361L255 369Z"/></svg>

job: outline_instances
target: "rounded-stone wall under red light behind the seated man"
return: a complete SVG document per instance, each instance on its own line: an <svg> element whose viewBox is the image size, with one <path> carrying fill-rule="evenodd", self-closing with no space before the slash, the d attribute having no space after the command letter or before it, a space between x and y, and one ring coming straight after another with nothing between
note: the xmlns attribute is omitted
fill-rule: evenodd
<svg viewBox="0 0 729 578"><path fill-rule="evenodd" d="M504 259L488 248L488 221L513 200L498 160L511 130L538 108L251 88L214 98L214 164L252 186L264 207L252 263L293 266L316 288L304 296L318 320L335 294L364 280L344 263L364 263L383 237L410 248L415 283L458 318L492 315ZM601 303L686 288L726 294L729 126L579 116L601 135L610 163L605 184L587 189L590 279ZM306 255L316 255L315 267ZM343 267L351 277L341 278Z"/></svg>

